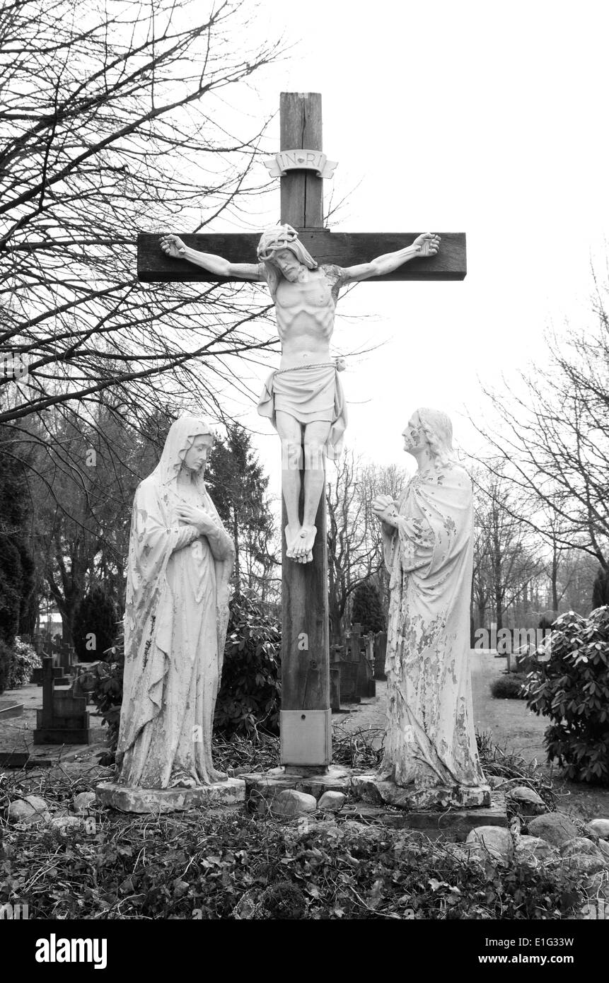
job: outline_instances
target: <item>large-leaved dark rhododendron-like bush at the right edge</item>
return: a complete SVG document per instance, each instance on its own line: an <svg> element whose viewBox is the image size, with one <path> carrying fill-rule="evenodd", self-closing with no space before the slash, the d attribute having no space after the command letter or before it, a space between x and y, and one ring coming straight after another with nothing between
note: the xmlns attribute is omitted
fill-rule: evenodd
<svg viewBox="0 0 609 983"><path fill-rule="evenodd" d="M553 721L545 732L548 761L568 779L609 784L609 607L556 619L525 695L531 710Z"/></svg>

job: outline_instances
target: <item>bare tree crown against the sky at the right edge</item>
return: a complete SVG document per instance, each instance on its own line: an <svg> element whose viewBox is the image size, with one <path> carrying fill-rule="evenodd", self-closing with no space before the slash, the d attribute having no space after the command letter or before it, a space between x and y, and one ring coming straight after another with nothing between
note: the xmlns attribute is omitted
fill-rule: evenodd
<svg viewBox="0 0 609 983"><path fill-rule="evenodd" d="M609 570L609 319L606 289L595 287L592 326L548 333L547 363L487 390L496 423L477 425L490 471L510 475L519 518L552 549L555 606L562 552L581 550Z"/></svg>

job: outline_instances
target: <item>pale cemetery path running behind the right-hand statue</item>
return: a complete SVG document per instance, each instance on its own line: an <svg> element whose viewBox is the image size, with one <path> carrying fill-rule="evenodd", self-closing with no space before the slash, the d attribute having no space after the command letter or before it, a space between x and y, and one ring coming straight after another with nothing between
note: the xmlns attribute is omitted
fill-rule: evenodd
<svg viewBox="0 0 609 983"><path fill-rule="evenodd" d="M556 769L546 763L543 734L548 725L545 717L537 717L527 709L524 700L496 700L491 696L491 683L506 669L505 657L486 650L471 651L471 695L473 718L479 733L490 733L492 740L502 750L516 751L525 762L534 758L546 775L552 774L557 792L557 808L589 820L599 816L609 818L609 788L588 786L580 782L564 781ZM376 698L349 704L347 712L333 714L338 732L352 733L369 728L385 728L387 683L377 680ZM341 708L342 709L342 708ZM381 734L375 737L380 746Z"/></svg>

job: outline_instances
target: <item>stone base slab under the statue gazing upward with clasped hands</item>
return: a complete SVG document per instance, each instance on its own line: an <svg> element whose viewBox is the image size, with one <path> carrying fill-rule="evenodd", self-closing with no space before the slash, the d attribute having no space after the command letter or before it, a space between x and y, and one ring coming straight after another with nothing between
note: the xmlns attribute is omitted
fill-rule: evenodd
<svg viewBox="0 0 609 983"><path fill-rule="evenodd" d="M414 785L396 785L394 781L383 781L376 775L354 775L351 788L357 798L372 804L395 806L396 809L471 809L487 808L491 804L491 789L488 785L476 788L455 785L440 788L415 788Z"/></svg>

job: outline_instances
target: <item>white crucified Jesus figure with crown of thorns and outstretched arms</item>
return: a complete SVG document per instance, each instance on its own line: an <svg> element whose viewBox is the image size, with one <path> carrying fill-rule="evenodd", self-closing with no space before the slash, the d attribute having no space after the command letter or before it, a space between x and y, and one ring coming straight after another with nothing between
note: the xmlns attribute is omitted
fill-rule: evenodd
<svg viewBox="0 0 609 983"><path fill-rule="evenodd" d="M265 280L274 301L281 340L281 363L265 385L259 413L270 417L281 438L282 488L287 512L287 555L298 562L313 559L315 516L324 488L324 455L340 453L346 408L331 357L335 307L340 287L391 273L414 257L438 252L440 237L426 232L396 253L342 268L318 265L289 225L265 232L258 246L258 263L229 262L185 246L177 236L161 239L167 256L189 260L220 276ZM304 445L305 489L302 523L298 515L300 467Z"/></svg>

